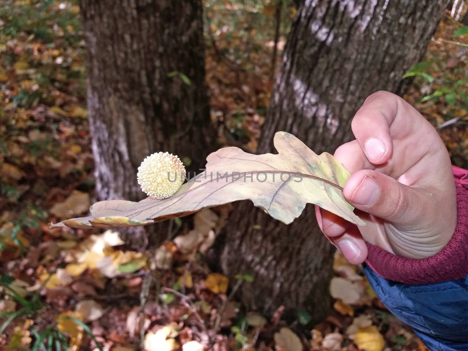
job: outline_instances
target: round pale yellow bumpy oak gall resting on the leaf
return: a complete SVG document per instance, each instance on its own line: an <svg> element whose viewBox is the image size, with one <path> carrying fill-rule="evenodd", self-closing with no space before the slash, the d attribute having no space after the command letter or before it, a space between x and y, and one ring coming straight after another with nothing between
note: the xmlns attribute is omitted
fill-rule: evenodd
<svg viewBox="0 0 468 351"><path fill-rule="evenodd" d="M146 156L141 162L137 179L146 195L164 199L180 189L185 174L185 167L177 155L159 152Z"/></svg>

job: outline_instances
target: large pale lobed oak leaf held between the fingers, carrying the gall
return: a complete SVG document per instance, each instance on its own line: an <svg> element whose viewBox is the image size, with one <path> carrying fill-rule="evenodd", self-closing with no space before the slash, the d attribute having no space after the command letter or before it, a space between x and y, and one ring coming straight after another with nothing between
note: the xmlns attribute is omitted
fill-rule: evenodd
<svg viewBox="0 0 468 351"><path fill-rule="evenodd" d="M285 224L311 203L365 225L343 197L350 174L336 158L328 153L314 154L286 132L276 133L274 144L279 154L254 155L237 147L219 149L207 157L205 172L183 184L172 197L100 201L91 206L91 216L66 219L52 227L140 226L244 199Z"/></svg>

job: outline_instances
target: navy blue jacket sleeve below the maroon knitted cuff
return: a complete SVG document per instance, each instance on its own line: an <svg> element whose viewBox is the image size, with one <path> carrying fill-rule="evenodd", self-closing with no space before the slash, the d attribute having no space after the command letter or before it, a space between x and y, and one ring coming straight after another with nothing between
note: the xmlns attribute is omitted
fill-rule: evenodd
<svg viewBox="0 0 468 351"><path fill-rule="evenodd" d="M388 310L432 351L468 351L468 276L407 285L387 280L363 263L366 277Z"/></svg>

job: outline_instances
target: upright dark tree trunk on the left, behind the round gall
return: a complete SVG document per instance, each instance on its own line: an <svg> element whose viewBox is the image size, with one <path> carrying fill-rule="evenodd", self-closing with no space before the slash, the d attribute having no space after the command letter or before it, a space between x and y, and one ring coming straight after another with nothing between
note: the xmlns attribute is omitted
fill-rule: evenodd
<svg viewBox="0 0 468 351"><path fill-rule="evenodd" d="M202 1L80 0L80 9L97 197L140 200L145 156L168 151L195 171L214 145Z"/></svg>

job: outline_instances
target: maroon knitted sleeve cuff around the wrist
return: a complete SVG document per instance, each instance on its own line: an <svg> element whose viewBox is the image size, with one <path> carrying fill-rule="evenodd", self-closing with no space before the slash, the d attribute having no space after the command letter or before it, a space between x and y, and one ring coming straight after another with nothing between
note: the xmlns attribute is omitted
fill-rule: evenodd
<svg viewBox="0 0 468 351"><path fill-rule="evenodd" d="M422 260L396 256L367 243L366 263L381 277L404 284L428 284L467 277L468 171L453 166L457 191L457 226L452 239L437 255Z"/></svg>

